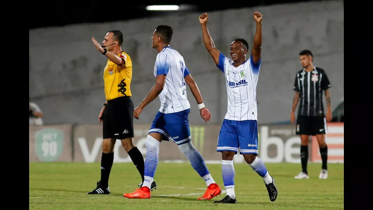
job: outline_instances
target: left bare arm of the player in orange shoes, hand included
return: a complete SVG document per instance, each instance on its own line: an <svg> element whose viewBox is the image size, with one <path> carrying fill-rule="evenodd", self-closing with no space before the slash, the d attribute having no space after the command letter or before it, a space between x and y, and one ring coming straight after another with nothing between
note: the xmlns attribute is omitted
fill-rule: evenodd
<svg viewBox="0 0 373 210"><path fill-rule="evenodd" d="M139 115L142 112L142 109L144 109L145 106L150 104L154 99L157 98L157 96L162 92L164 87L164 82L166 81L166 75L161 74L156 77L156 84L154 84L153 88L150 90L148 95L145 97L144 100L140 103L139 106L136 107L134 110L134 117L136 119L139 119Z"/></svg>

